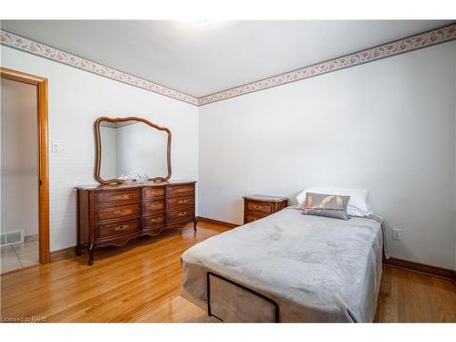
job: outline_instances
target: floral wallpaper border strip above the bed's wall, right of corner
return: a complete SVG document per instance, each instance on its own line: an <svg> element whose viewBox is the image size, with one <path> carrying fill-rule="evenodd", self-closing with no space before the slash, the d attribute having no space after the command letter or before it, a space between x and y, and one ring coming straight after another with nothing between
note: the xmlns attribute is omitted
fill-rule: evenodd
<svg viewBox="0 0 456 342"><path fill-rule="evenodd" d="M355 67L378 59L392 57L418 50L420 48L449 42L454 39L456 39L456 23L452 23L449 26L442 26L418 35L402 38L378 47L371 47L343 57L327 60L326 62L313 66L303 67L272 78L264 78L256 82L248 83L244 86L219 91L217 93L198 98L198 104L203 106L226 98L234 98L240 95L252 93L254 91L281 86L297 80L313 78L346 67Z"/></svg>

